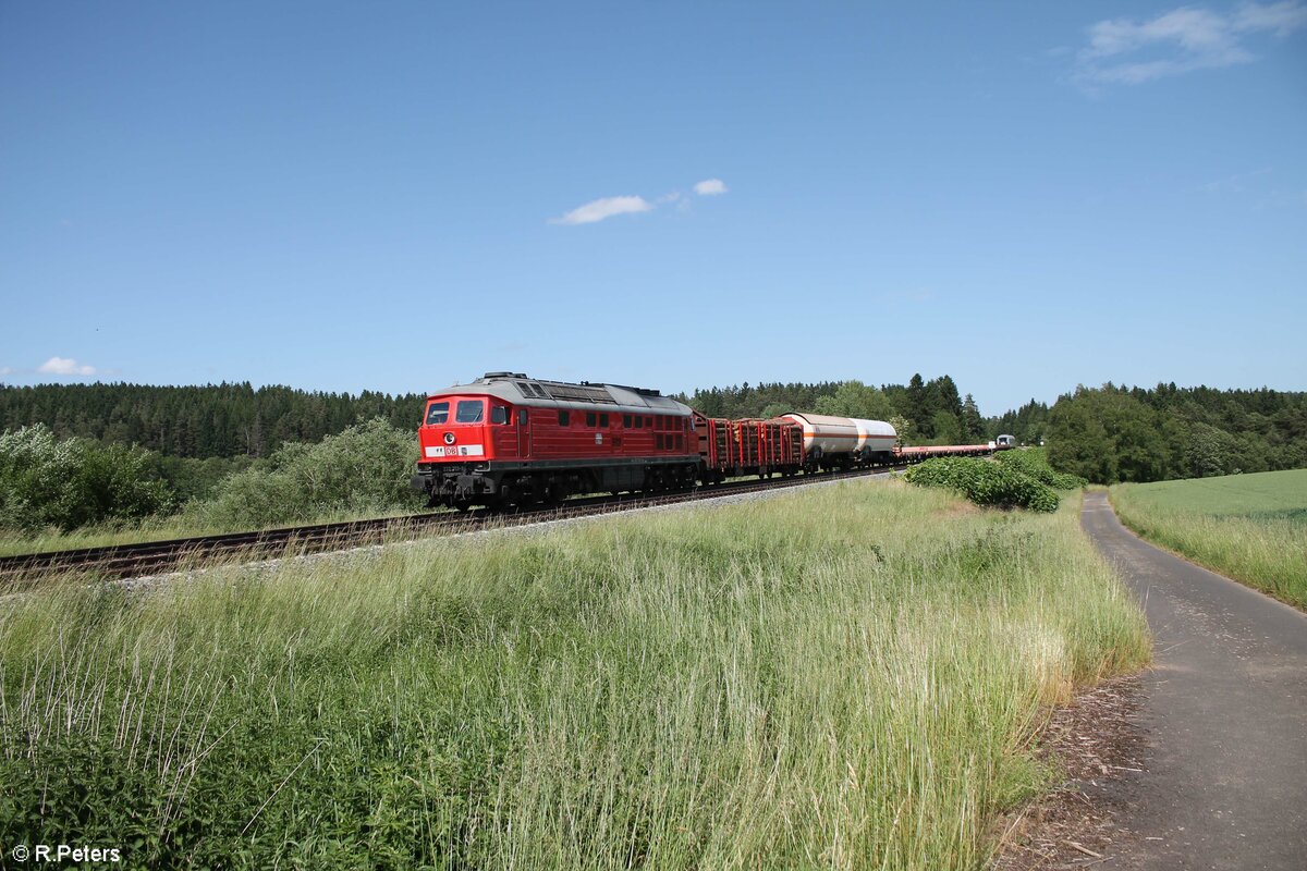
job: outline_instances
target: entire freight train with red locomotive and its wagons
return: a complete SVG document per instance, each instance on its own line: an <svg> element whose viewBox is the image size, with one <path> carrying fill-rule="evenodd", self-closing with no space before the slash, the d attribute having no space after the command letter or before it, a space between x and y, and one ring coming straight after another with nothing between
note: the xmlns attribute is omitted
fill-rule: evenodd
<svg viewBox="0 0 1307 871"><path fill-rule="evenodd" d="M980 456L996 448L901 448L897 436L882 420L799 413L727 420L646 388L486 372L427 397L412 484L430 507L467 509Z"/></svg>

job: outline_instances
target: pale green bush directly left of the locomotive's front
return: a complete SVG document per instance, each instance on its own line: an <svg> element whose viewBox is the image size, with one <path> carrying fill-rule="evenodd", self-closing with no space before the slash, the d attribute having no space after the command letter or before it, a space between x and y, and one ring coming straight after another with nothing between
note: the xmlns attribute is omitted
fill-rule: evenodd
<svg viewBox="0 0 1307 871"><path fill-rule="evenodd" d="M408 486L416 460L413 432L375 418L316 444L282 445L267 465L231 475L212 500L191 503L188 512L205 526L252 529L417 509L425 503Z"/></svg>

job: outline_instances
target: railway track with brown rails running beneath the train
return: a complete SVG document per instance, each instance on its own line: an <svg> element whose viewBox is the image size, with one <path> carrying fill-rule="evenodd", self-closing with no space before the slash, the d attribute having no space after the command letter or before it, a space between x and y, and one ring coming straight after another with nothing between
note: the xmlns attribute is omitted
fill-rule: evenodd
<svg viewBox="0 0 1307 871"><path fill-rule="evenodd" d="M0 581L59 573L88 573L106 580L158 575L183 567L229 560L254 560L286 554L340 551L389 541L425 535L455 534L486 528L528 526L553 520L571 520L610 515L635 508L673 505L765 490L800 487L819 481L840 481L898 471L907 465L876 466L846 473L800 475L769 481L745 481L716 484L690 491L654 495L587 496L569 499L561 505L518 508L511 511L474 511L464 515L420 513L403 517L353 520L339 524L288 526L256 533L197 535L140 545L111 545L76 550L47 551L0 556Z"/></svg>

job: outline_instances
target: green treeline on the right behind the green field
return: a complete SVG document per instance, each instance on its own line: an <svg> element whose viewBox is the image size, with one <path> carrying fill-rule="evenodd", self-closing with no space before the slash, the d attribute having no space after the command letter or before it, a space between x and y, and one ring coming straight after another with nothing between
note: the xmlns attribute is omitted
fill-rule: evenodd
<svg viewBox="0 0 1307 871"><path fill-rule="evenodd" d="M1094 483L1307 466L1307 393L1080 387L1044 420L1048 460Z"/></svg>

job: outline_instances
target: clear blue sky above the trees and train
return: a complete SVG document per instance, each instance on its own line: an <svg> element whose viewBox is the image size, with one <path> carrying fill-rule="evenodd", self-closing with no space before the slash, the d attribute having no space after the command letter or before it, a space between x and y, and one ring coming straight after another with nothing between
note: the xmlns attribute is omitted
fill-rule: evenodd
<svg viewBox="0 0 1307 871"><path fill-rule="evenodd" d="M0 3L0 380L1307 389L1307 4Z"/></svg>

